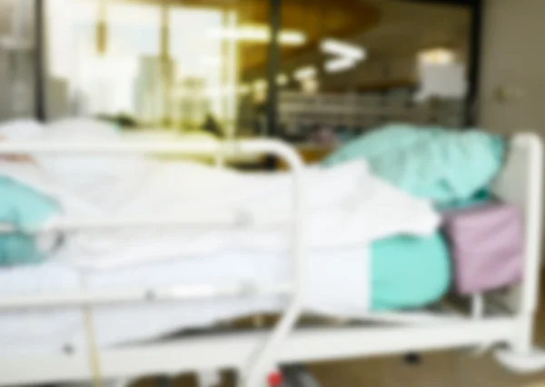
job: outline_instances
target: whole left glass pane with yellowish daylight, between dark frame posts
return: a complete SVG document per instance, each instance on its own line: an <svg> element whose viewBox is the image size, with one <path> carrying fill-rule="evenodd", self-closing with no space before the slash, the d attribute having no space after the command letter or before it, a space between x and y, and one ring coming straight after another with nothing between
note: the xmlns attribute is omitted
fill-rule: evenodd
<svg viewBox="0 0 545 387"><path fill-rule="evenodd" d="M48 0L48 57L62 114L127 129L252 134L245 71L263 78L262 0Z"/></svg>

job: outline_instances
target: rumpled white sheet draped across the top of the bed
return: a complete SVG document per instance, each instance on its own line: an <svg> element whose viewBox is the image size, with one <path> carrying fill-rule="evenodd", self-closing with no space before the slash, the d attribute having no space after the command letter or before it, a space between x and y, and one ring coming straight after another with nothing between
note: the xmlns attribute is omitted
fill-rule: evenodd
<svg viewBox="0 0 545 387"><path fill-rule="evenodd" d="M93 120L63 120L44 130L35 124L25 129L26 124L0 125L0 132L8 139L23 133L36 144L131 144L112 125ZM55 256L83 270L154 261L157 251L179 258L241 249L277 253L291 246L292 174L240 173L135 154L30 155L35 163L0 163L0 174L60 203L61 212L52 214L49 226L104 218L188 223L198 218L208 224L206 229L68 233ZM362 160L333 168L311 166L303 177L304 240L312 248L345 248L397 234L429 236L440 224L429 201L381 181ZM224 223L233 227L217 226Z"/></svg>

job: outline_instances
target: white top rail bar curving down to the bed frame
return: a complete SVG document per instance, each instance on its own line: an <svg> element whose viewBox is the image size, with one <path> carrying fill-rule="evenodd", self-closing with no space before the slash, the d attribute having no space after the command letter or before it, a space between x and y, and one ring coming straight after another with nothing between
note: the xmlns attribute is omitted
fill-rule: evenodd
<svg viewBox="0 0 545 387"><path fill-rule="evenodd" d="M277 156L285 162L293 173L293 206L294 217L292 222L293 239L293 287L292 300L289 306L282 314L282 318L277 323L263 348L253 353L249 359L247 370L243 370L243 385L245 387L256 387L264 382L264 377L268 369L272 368L273 356L277 353L279 345L292 331L295 323L302 312L303 291L304 291L304 269L305 269L305 248L304 248L304 225L305 213L303 200L304 182L301 156L297 154L291 146L283 144L277 140L247 140L247 141L203 141L203 142L119 142L119 143L53 143L43 142L3 142L0 144L0 154L32 154L33 156L42 154L184 154L200 156L216 156L221 154L223 157L231 157L243 154L271 154ZM87 222L87 221L85 221ZM103 219L89 221L100 222L104 226ZM121 221L119 221L121 222ZM81 224L64 224L81 225Z"/></svg>

